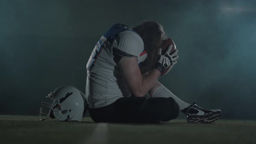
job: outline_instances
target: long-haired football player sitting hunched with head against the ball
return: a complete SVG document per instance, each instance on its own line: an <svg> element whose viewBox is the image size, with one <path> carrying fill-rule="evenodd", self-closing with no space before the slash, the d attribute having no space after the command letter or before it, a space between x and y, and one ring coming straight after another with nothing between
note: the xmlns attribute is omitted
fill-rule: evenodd
<svg viewBox="0 0 256 144"><path fill-rule="evenodd" d="M177 63L174 44L161 52L163 27L146 21L133 28L117 23L98 40L86 65L85 96L95 122L159 123L177 118L213 122L221 115L177 98L158 82ZM148 97L144 97L147 95Z"/></svg>

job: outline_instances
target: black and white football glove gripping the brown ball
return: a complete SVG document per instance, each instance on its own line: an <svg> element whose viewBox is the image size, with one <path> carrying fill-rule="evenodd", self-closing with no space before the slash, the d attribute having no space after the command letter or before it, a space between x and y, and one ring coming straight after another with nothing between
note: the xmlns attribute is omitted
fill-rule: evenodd
<svg viewBox="0 0 256 144"><path fill-rule="evenodd" d="M158 57L156 61L156 69L158 69L161 74L165 72L165 69L168 69L169 67L173 67L177 63L178 59L178 50L176 49L174 52L171 52L173 45L170 45L167 49L167 51L161 55L162 49L159 49L158 51Z"/></svg>

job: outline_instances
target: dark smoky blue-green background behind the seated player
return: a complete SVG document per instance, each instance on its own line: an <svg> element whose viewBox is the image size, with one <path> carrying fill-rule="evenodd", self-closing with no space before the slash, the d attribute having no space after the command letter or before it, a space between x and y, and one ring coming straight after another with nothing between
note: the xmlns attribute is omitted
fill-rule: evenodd
<svg viewBox="0 0 256 144"><path fill-rule="evenodd" d="M158 21L179 49L161 77L175 95L223 118L256 118L253 0L1 0L0 114L37 115L61 85L85 92L85 65L114 23Z"/></svg>

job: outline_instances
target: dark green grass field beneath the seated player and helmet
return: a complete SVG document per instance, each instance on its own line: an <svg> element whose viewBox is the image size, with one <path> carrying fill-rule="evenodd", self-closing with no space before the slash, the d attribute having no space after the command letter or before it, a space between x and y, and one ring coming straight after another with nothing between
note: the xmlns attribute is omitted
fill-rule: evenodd
<svg viewBox="0 0 256 144"><path fill-rule="evenodd" d="M94 123L90 118L62 122L0 115L0 144L256 144L256 121L114 124Z"/></svg>

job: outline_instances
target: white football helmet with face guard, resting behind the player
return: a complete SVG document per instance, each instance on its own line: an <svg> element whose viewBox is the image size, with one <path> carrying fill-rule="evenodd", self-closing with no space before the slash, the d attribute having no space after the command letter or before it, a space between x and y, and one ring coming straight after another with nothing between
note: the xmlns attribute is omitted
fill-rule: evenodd
<svg viewBox="0 0 256 144"><path fill-rule="evenodd" d="M62 86L49 93L53 103L42 102L39 111L39 120L56 118L59 121L82 121L88 109L85 95L72 86Z"/></svg>

